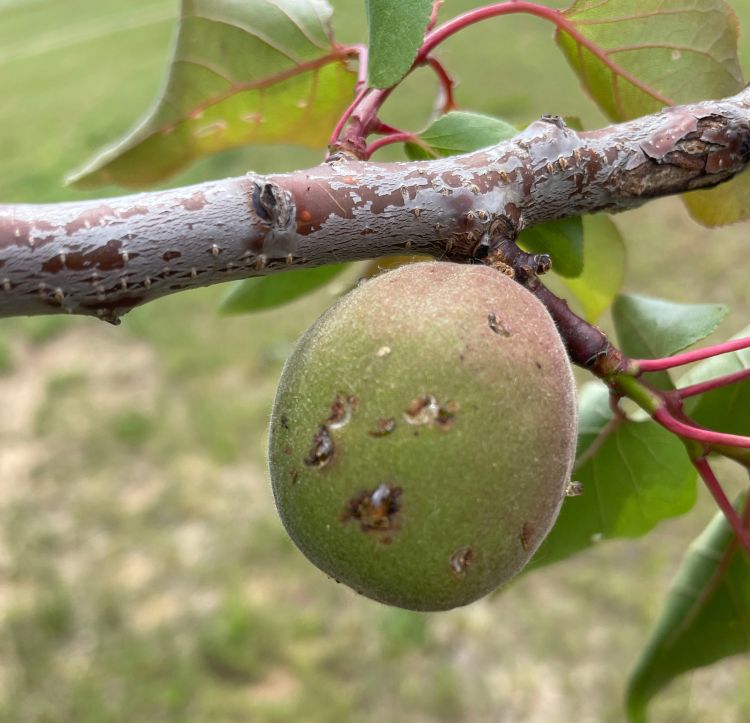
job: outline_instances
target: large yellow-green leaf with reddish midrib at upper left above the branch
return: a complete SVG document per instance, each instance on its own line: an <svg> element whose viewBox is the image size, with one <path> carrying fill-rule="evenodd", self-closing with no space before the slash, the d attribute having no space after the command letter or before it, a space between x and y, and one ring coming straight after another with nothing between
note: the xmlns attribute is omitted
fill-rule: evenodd
<svg viewBox="0 0 750 723"><path fill-rule="evenodd" d="M331 12L324 0L183 0L155 107L69 182L138 188L227 148L324 147L355 82Z"/></svg>

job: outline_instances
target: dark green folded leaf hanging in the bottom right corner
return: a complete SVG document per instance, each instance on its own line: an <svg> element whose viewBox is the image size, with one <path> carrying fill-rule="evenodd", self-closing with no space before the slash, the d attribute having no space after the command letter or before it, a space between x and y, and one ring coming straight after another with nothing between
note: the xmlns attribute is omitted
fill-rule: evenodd
<svg viewBox="0 0 750 723"><path fill-rule="evenodd" d="M750 651L750 558L733 539L719 512L683 558L630 676L634 723L646 720L649 700L676 676Z"/></svg>

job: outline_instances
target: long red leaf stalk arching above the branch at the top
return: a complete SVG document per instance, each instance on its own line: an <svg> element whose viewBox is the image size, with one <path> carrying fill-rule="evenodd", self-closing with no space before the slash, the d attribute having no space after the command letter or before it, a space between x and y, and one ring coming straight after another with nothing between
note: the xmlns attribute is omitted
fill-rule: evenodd
<svg viewBox="0 0 750 723"><path fill-rule="evenodd" d="M414 61L414 65L421 65L424 63L429 54L440 43L451 35L457 33L459 30L463 30L469 25L481 22L482 20L487 20L488 18L498 17L500 15L510 15L513 13L526 13L527 15L535 15L536 17L549 20L551 23L554 23L559 30L565 31L579 45L586 48L586 50L592 55L601 60L601 62L604 63L604 65L613 73L622 76L636 88L640 88L644 93L647 93L664 105L673 105L672 100L663 96L654 88L651 88L624 68L617 65L617 63L613 62L605 50L602 50L602 48L596 43L592 43L585 35L582 35L576 28L575 24L570 22L559 10L544 5L537 5L532 2L524 2L523 0L508 0L507 2L487 5L483 8L470 10L463 15L458 15L452 20L449 20L447 23L441 25L427 35L419 53L417 53L417 59Z"/></svg>

